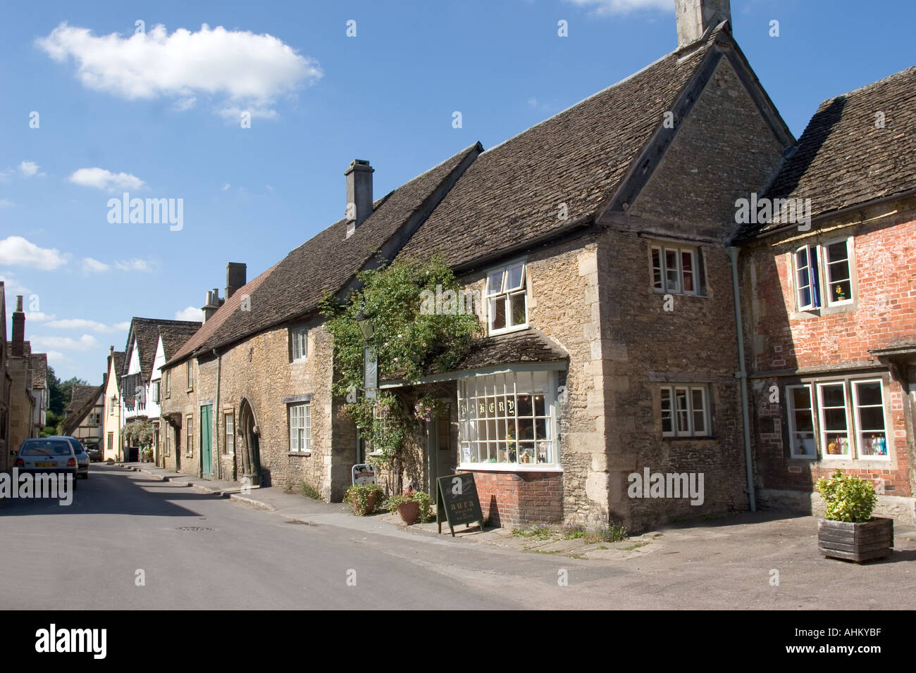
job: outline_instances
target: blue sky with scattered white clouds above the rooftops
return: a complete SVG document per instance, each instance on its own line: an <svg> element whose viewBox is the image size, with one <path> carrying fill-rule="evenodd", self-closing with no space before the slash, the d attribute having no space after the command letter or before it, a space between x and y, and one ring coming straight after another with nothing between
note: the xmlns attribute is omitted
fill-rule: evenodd
<svg viewBox="0 0 916 673"><path fill-rule="evenodd" d="M109 344L124 349L131 316L174 319L200 307L206 289L223 292L226 262L245 262L251 279L342 217L352 159L376 168L377 198L677 42L673 0L31 2L2 11L7 320L25 294L33 350L48 352L61 378L91 383L101 383ZM916 62L911 0L732 0L732 19L796 136L823 99ZM769 35L774 19L779 37ZM558 36L560 20L568 37ZM107 202L125 190L182 199L181 230L109 223Z"/></svg>

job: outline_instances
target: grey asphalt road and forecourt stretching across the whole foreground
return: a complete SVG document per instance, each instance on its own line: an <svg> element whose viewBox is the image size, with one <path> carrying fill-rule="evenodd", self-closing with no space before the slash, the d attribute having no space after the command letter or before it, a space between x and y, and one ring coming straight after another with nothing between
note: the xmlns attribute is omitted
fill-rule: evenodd
<svg viewBox="0 0 916 673"><path fill-rule="evenodd" d="M0 609L916 607L912 528L860 566L823 559L810 516L671 526L623 560L294 521L93 465L70 506L0 502Z"/></svg>

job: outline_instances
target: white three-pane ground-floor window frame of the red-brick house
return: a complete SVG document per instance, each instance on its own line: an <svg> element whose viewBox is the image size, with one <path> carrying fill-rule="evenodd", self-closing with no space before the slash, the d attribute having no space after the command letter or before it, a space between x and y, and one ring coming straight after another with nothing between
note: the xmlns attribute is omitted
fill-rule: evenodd
<svg viewBox="0 0 916 673"><path fill-rule="evenodd" d="M858 442L856 441L856 432L858 421L856 420L856 409L853 406L854 399L852 393L852 385L856 382L865 382L865 381L880 381L881 382L881 399L884 403L884 434L885 440L887 441L887 450L888 453L886 456L862 456L858 452ZM831 456L826 458L827 455L823 453L822 448L822 428L821 428L821 414L820 414L820 398L818 391L816 389L817 384L831 384L831 383L843 383L845 389L846 397L846 428L847 434L851 435L852 440L852 449L855 451L856 457L852 455L849 456ZM787 456L792 461L806 461L812 467L823 467L824 469L830 468L840 468L840 469L868 469L874 468L876 470L894 470L897 469L897 458L894 451L894 433L893 433L893 418L889 415L889 380L888 375L882 372L871 372L871 373L860 373L860 374L826 374L826 375L803 375L803 376L794 376L791 379L784 382L781 387L786 389L792 385L811 385L812 386L812 404L813 408L813 419L814 419L814 438L816 441L815 450L817 451L814 457L810 456L792 456L791 455L791 439L789 436L789 424L788 417L787 423L783 428L782 440L783 446L790 447ZM789 413L789 403L785 405L786 413ZM851 415L850 415L850 412ZM780 416L782 414L780 413ZM852 422L850 422L850 419ZM851 451L852 453L852 451Z"/></svg>

